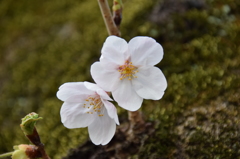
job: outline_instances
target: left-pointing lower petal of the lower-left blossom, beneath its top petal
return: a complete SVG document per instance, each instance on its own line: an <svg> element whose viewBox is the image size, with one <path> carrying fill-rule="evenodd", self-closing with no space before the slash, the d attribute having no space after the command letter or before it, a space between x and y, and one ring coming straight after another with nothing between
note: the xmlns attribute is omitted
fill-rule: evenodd
<svg viewBox="0 0 240 159"><path fill-rule="evenodd" d="M61 121L69 129L87 127L95 119L95 116L87 114L87 111L81 103L64 102L60 110Z"/></svg>

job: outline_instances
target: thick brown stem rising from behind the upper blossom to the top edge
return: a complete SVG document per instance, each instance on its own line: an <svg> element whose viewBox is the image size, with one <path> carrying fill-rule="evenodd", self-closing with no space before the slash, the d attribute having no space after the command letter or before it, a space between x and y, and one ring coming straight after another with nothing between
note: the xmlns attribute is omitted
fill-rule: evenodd
<svg viewBox="0 0 240 159"><path fill-rule="evenodd" d="M98 4L108 31L109 35L120 36L120 31L118 30L115 22L113 21L112 14L107 0L98 0Z"/></svg>

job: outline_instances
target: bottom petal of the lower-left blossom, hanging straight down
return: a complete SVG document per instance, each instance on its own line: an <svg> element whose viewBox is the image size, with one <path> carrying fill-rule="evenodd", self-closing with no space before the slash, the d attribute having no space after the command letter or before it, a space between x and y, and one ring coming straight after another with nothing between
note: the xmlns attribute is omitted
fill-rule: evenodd
<svg viewBox="0 0 240 159"><path fill-rule="evenodd" d="M116 124L107 113L104 116L98 117L89 125L88 132L90 139L95 145L106 145L113 138L116 131Z"/></svg>

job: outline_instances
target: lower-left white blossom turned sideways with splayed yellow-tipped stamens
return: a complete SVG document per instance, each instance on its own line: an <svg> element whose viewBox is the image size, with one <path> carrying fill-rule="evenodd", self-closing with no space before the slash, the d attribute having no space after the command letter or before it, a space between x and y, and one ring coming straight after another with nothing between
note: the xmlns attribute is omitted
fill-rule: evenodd
<svg viewBox="0 0 240 159"><path fill-rule="evenodd" d="M95 145L110 142L119 121L115 106L109 102L112 99L104 90L89 82L70 82L60 86L57 97L64 101L60 114L65 127L88 127Z"/></svg>

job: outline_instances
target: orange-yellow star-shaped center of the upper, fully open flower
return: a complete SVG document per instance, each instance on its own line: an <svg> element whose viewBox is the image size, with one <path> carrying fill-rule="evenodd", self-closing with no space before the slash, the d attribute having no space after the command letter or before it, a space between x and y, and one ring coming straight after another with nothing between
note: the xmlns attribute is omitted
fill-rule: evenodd
<svg viewBox="0 0 240 159"><path fill-rule="evenodd" d="M138 70L137 67L132 64L132 62L127 60L124 65L118 67L118 72L121 74L120 80L123 80L124 78L132 80L133 78L137 78L135 74L138 72Z"/></svg>

